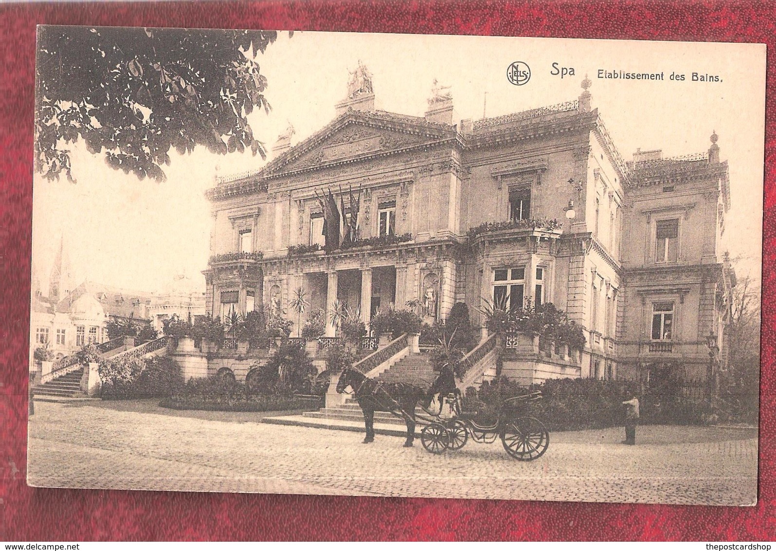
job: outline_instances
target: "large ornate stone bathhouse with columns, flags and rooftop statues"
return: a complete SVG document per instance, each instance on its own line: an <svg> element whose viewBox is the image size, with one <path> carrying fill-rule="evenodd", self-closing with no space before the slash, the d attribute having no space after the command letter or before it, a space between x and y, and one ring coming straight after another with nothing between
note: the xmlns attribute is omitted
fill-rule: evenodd
<svg viewBox="0 0 776 551"><path fill-rule="evenodd" d="M584 352L508 338L503 373L529 383L708 362L705 336L722 334L732 283L716 136L708 154L639 151L626 163L590 85L573 101L472 121L435 83L417 117L375 109L359 67L331 123L293 147L289 127L264 168L206 192L206 310L289 310L300 287L309 310L338 300L367 324L390 305L431 322L459 302L473 319L485 300L554 303L584 327ZM332 204L344 220L329 218Z"/></svg>

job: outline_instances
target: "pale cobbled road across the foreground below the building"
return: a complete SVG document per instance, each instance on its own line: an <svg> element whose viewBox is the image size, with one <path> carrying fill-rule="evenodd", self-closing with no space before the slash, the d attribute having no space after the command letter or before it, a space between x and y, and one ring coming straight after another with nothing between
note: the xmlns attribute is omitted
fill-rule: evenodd
<svg viewBox="0 0 776 551"><path fill-rule="evenodd" d="M545 456L509 459L501 442L433 456L416 441L267 425L262 414L180 412L154 402L37 402L33 486L673 504L753 504L754 431L640 427L553 432Z"/></svg>

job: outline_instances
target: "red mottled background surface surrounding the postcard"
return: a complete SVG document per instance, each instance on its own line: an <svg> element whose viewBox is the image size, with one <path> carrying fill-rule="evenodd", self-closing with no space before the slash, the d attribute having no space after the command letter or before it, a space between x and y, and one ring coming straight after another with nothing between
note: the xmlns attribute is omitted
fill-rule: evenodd
<svg viewBox="0 0 776 551"><path fill-rule="evenodd" d="M0 5L0 540L776 539L776 320L764 308L754 508L47 490L26 486L35 26L189 26L767 43L771 2L224 2ZM766 120L764 296L776 260L776 94Z"/></svg>

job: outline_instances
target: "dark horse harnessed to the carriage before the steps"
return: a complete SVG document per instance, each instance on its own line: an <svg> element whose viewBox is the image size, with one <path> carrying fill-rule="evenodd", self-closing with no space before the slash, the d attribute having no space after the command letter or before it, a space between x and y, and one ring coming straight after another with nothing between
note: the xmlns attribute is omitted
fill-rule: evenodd
<svg viewBox="0 0 776 551"><path fill-rule="evenodd" d="M353 389L353 397L359 402L364 414L366 427L364 444L375 441L375 411L388 411L399 415L407 423L407 439L404 441L404 447L412 447L415 438L415 407L425 397L426 393L423 389L409 383L381 383L375 379L369 379L352 367L342 370L337 383L337 392L344 393L348 386Z"/></svg>

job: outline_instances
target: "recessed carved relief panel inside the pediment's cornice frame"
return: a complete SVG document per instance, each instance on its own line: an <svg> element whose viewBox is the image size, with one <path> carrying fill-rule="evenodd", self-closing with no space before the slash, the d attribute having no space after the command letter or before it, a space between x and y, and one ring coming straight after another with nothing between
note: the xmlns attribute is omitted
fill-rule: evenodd
<svg viewBox="0 0 776 551"><path fill-rule="evenodd" d="M272 174L282 174L315 168L336 161L367 157L370 154L421 145L428 141L431 139L413 133L383 130L359 123L351 123L325 140L321 140L310 151L289 158L286 163L273 167L271 172Z"/></svg>

